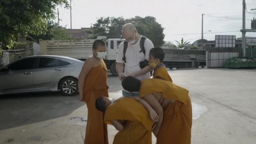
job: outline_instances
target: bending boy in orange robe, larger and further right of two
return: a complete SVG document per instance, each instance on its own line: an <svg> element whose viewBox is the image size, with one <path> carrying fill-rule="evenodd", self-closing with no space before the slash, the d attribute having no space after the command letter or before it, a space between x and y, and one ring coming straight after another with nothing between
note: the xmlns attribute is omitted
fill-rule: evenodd
<svg viewBox="0 0 256 144"><path fill-rule="evenodd" d="M135 92L157 112L159 120L153 129L157 144L191 143L192 106L186 89L160 79L140 83L135 77L125 77L122 86L126 91L137 88Z"/></svg>

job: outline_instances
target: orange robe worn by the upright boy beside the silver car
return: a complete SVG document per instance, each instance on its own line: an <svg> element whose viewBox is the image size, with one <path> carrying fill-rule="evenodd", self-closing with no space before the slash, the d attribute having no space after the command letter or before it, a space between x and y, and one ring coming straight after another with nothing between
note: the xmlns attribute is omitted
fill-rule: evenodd
<svg viewBox="0 0 256 144"><path fill-rule="evenodd" d="M104 124L104 113L95 107L95 101L101 96L108 97L107 66L103 60L93 67L85 79L84 99L88 108L85 131L85 144L108 144L107 124Z"/></svg>

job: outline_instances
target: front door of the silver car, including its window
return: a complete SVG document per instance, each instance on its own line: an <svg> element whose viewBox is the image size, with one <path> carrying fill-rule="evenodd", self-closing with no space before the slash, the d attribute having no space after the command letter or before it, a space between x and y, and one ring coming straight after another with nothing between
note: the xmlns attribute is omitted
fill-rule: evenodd
<svg viewBox="0 0 256 144"><path fill-rule="evenodd" d="M7 66L0 72L0 91L12 93L33 89L33 72L38 58L25 58Z"/></svg>

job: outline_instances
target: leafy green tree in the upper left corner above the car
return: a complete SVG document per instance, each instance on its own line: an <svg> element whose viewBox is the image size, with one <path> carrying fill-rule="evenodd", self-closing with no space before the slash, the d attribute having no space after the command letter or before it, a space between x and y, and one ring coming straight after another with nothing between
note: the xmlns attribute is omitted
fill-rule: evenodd
<svg viewBox="0 0 256 144"><path fill-rule="evenodd" d="M57 5L69 6L67 0L1 0L0 49L12 48L18 37L45 34Z"/></svg>

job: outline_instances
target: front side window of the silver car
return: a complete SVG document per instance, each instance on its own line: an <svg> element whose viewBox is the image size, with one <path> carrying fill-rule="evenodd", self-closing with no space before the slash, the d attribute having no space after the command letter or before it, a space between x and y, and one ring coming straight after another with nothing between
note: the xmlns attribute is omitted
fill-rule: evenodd
<svg viewBox="0 0 256 144"><path fill-rule="evenodd" d="M35 69L37 68L38 58L21 59L8 66L11 70Z"/></svg>

